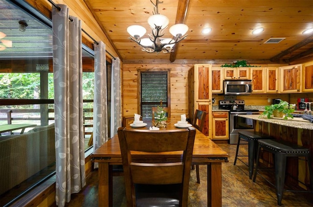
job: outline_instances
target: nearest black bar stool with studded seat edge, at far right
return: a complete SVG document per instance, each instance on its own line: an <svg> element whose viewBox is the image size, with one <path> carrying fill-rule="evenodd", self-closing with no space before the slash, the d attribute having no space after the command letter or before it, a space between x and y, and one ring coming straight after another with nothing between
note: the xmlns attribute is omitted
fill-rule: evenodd
<svg viewBox="0 0 313 207"><path fill-rule="evenodd" d="M258 173L259 167L259 155L260 150L263 148L264 151L274 153L274 168L275 168L275 187L277 195L277 204L281 206L283 199L285 175L286 175L286 161L287 157L305 157L305 160L308 163L309 173L310 173L310 183L311 191L299 191L298 192L313 192L313 174L312 174L312 165L310 159L310 150L298 145L291 144L283 140L258 140L258 151L257 151L257 161L256 168L253 176L253 182L255 182L256 175ZM268 180L267 180L268 181ZM268 181L269 182L269 181Z"/></svg>

